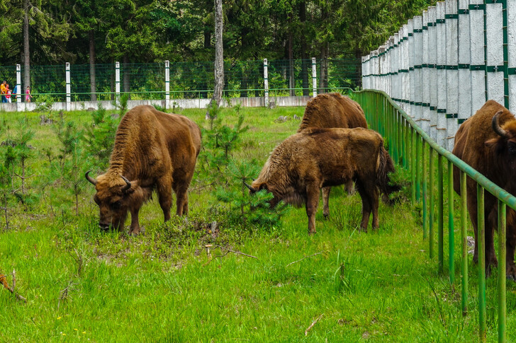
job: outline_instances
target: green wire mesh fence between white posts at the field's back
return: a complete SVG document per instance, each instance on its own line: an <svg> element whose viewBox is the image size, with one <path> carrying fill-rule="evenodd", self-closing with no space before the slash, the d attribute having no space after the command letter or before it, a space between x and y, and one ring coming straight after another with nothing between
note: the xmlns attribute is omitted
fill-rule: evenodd
<svg viewBox="0 0 516 343"><path fill-rule="evenodd" d="M120 63L70 65L70 100L73 102L114 100L127 93L131 100L164 100L166 97L165 63ZM321 73L321 68L326 71ZM265 93L264 61L226 61L224 96L228 98L262 97ZM208 99L213 95L213 62L177 62L169 64L170 99ZM26 70L21 66L23 83ZM325 75L321 81L320 75ZM92 77L94 76L94 77ZM338 90L361 86L361 61L358 59L317 59L315 75L312 59L274 60L268 62L271 96L311 95L313 78L316 88ZM11 89L16 85L16 66L0 66L0 79ZM117 85L119 88L117 88ZM26 85L22 84L22 89ZM63 65L30 66L33 101L67 100L66 71ZM22 97L24 98L24 97Z"/></svg>

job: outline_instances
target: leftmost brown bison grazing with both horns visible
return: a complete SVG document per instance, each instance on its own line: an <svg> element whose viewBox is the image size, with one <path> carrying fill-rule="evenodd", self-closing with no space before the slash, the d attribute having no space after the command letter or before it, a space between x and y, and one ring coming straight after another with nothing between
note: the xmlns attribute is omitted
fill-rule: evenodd
<svg viewBox="0 0 516 343"><path fill-rule="evenodd" d="M138 211L156 190L165 221L170 219L172 190L176 213L188 214L188 194L196 159L201 149L201 130L182 115L137 106L127 112L116 130L108 171L86 179L95 185L101 228L123 229L128 211L130 233L140 232Z"/></svg>

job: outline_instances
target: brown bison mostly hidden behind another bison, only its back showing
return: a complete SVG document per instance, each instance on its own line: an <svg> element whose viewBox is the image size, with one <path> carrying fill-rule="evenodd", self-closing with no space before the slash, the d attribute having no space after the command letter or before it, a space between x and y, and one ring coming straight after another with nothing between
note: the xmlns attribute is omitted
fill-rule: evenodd
<svg viewBox="0 0 516 343"><path fill-rule="evenodd" d="M352 129L354 127L364 127L367 129L366 117L364 110L358 103L351 100L347 96L339 93L319 94L312 100L308 101L305 108L305 114L298 132L313 128L330 128L344 127ZM325 217L330 215L331 187L322 188L322 214ZM346 184L346 190L352 194L353 181L349 180Z"/></svg>

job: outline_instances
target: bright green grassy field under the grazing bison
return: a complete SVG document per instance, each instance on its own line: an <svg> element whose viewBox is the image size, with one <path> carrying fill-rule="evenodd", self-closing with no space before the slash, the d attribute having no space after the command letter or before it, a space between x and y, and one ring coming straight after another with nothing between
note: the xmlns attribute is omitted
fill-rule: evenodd
<svg viewBox="0 0 516 343"><path fill-rule="evenodd" d="M180 112L207 125L203 110ZM264 163L274 146L296 132L299 124L296 120L276 122L276 118L301 117L303 108L241 112L249 130L234 157ZM220 116L228 123L237 118L231 109ZM1 131L0 141L16 135L22 117L35 131L28 173L43 175L48 168L44 149L57 151L60 144L52 125L39 125L39 114L0 113L10 127ZM72 112L67 120L84 124L91 122L91 115ZM399 171L396 176L403 181L405 174ZM463 317L459 263L458 280L452 286L447 274L437 273L437 260L428 257L420 211L406 201L393 207L381 203L380 228L369 233L357 231L359 195L349 196L342 187L332 191L329 219L323 219L320 204L314 236L307 234L304 209L288 209L280 225L272 228L233 227L225 221L223 205L216 204L213 187L196 173L188 220L174 217L162 223L155 197L140 211L145 233L129 237L98 228L91 185L80 195L79 216L72 195L57 184L52 187L56 191L45 195L35 180L29 180L28 192L37 201L30 206L9 206L9 231L4 230L1 211L0 274L7 274L11 284L11 272L16 269L16 291L27 299L27 303L17 301L0 289L1 341L477 339L477 277L471 255L470 310ZM213 232L212 221L218 222ZM206 245L212 245L209 251ZM493 274L487 286L490 342L496 339L496 271ZM515 291L515 284L507 284L510 342L516 340L511 330L516 327Z"/></svg>

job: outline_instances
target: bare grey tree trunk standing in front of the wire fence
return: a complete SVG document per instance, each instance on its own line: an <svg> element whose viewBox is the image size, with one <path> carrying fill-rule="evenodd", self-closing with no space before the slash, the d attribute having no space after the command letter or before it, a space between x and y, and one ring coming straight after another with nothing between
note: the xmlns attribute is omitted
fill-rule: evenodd
<svg viewBox="0 0 516 343"><path fill-rule="evenodd" d="M222 0L215 0L215 86L210 105L215 101L217 106L220 105L224 89L223 25ZM206 112L206 117L209 119L208 112Z"/></svg>

